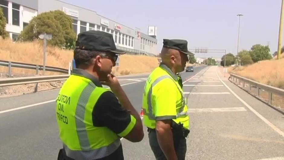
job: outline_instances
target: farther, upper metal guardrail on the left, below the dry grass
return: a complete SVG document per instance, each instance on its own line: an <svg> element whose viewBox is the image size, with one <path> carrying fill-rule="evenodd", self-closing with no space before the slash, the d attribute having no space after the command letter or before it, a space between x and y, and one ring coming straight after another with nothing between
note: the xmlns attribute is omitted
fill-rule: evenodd
<svg viewBox="0 0 284 160"><path fill-rule="evenodd" d="M11 62L11 61L5 61L5 60L0 60L0 66L8 67L8 77L12 76L12 69L11 69L12 67L24 68L24 69L34 69L36 70L36 74L38 74L39 70L43 70L44 68L42 65ZM67 73L67 74L69 73L69 70L64 69L64 68L58 68L58 67L46 66L45 70L51 71L51 72Z"/></svg>

